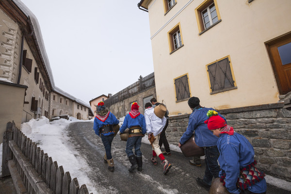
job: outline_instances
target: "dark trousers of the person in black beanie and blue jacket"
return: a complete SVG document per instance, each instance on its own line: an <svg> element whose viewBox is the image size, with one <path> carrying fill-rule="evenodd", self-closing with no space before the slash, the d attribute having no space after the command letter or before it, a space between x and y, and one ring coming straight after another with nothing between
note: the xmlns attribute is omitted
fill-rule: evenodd
<svg viewBox="0 0 291 194"><path fill-rule="evenodd" d="M212 177L218 178L220 166L218 165L219 151L217 146L204 147L205 153L205 175L204 182L211 185Z"/></svg>

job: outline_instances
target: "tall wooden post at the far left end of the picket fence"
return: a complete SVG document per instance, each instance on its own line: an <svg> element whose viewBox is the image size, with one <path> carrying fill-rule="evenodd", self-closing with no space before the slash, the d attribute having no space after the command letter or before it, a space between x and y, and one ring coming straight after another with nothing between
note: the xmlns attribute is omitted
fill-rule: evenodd
<svg viewBox="0 0 291 194"><path fill-rule="evenodd" d="M10 175L8 168L8 161L12 160L12 151L9 148L9 140L13 138L13 123L7 123L6 131L3 133L3 147L2 147L2 177ZM15 124L14 124L15 125Z"/></svg>

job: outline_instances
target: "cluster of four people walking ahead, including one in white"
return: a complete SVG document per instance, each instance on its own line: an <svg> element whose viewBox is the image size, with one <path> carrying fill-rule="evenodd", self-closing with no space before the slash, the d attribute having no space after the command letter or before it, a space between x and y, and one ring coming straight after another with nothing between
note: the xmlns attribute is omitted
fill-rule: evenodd
<svg viewBox="0 0 291 194"><path fill-rule="evenodd" d="M152 98L145 104L145 115L139 112L139 106L136 102L131 105L131 111L125 116L122 126L120 127L120 133L124 133L126 129L129 129L129 136L126 143L125 152L131 163L129 172L138 169L142 171L143 160L142 160L142 138L145 134L148 134L148 139L153 139L151 145L153 155L151 162L153 165L158 164L157 156L162 161L163 174L167 174L172 167L172 164L168 162L164 155L171 155L170 146L165 136L165 130L168 125L168 112L165 115L158 117L154 113L155 106L158 106L156 98ZM167 117L167 118L166 118ZM108 163L108 169L114 171L114 162L111 155L111 145L114 137L113 125L118 124L119 121L116 119L113 113L109 112L104 105L104 102L99 102L97 105L97 113L94 120L93 129L95 133L101 137L102 143L105 147L104 162ZM160 137L161 136L161 137ZM162 153L161 146L164 144L165 151ZM132 149L134 148L134 152Z"/></svg>

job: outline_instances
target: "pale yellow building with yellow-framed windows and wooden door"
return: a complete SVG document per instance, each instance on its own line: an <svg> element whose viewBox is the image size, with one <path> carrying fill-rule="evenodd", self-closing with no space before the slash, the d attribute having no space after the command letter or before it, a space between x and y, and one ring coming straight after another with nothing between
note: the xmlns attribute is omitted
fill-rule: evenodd
<svg viewBox="0 0 291 194"><path fill-rule="evenodd" d="M141 0L157 99L218 110L275 103L291 91L290 0Z"/></svg>

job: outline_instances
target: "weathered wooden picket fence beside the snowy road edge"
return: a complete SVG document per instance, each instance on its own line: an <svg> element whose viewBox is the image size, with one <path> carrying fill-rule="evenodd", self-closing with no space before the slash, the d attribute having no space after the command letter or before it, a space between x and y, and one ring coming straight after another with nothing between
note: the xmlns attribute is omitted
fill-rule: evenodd
<svg viewBox="0 0 291 194"><path fill-rule="evenodd" d="M14 122L3 133L2 177L11 175L17 194L89 194L85 184L64 172ZM91 193L92 194L92 193Z"/></svg>

